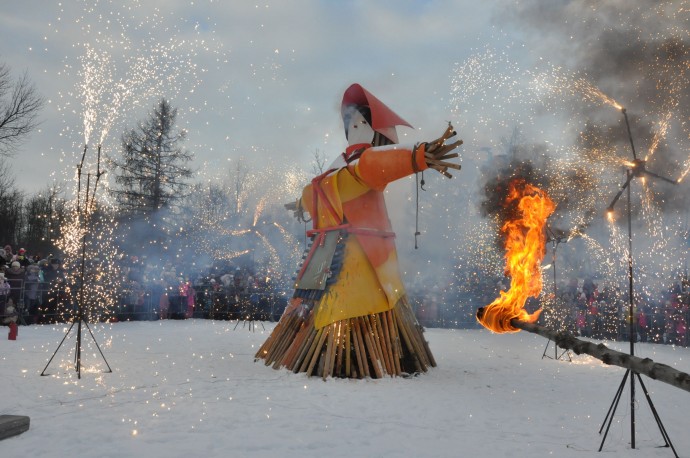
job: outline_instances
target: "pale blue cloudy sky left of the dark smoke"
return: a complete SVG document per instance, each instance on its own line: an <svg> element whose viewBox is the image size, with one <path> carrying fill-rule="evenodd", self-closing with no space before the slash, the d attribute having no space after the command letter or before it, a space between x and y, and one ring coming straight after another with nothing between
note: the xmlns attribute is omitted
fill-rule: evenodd
<svg viewBox="0 0 690 458"><path fill-rule="evenodd" d="M179 108L197 167L217 171L239 156L308 166L314 150L342 149L338 104L354 82L418 129L406 129L410 141L435 138L446 121L461 122L450 103L459 63L487 47L522 52L493 24L496 5L509 2L12 2L0 16L0 60L16 75L28 71L48 101L40 131L12 160L18 185L33 191L52 171L71 176L84 143L83 65L105 52L104 68L126 83L103 142L111 154L123 129L164 96ZM159 66L140 87L127 75L135 59L150 61L146 71ZM117 92L104 88L101 120Z"/></svg>

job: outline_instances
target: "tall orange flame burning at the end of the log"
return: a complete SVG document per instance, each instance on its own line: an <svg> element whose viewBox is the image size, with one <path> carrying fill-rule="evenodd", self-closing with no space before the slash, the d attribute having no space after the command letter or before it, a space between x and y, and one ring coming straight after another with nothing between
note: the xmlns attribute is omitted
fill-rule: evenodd
<svg viewBox="0 0 690 458"><path fill-rule="evenodd" d="M485 328L497 332L518 332L510 324L516 318L534 323L541 309L532 314L524 309L529 297L538 297L542 289L541 262L546 254L546 219L556 204L541 189L522 179L514 179L508 187L504 206L517 202L517 215L501 228L505 236L506 274L510 288L486 307L477 310L477 320Z"/></svg>

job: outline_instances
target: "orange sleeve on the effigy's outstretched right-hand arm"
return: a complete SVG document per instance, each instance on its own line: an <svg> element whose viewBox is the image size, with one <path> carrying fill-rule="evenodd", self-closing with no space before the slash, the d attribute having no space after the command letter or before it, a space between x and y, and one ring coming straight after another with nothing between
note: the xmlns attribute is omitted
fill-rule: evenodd
<svg viewBox="0 0 690 458"><path fill-rule="evenodd" d="M370 188L383 191L388 183L429 167L424 160L424 147L422 143L414 150L399 145L368 148L353 173Z"/></svg>

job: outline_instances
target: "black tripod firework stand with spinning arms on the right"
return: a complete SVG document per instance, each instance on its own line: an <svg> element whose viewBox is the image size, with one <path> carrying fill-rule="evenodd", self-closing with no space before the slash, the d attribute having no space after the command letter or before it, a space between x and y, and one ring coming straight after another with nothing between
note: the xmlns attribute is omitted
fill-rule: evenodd
<svg viewBox="0 0 690 458"><path fill-rule="evenodd" d="M613 201L611 202L611 205L609 205L607 209L608 217L609 219L613 219L613 210L614 206L620 199L620 197L623 195L623 191L627 190L627 205L626 205L626 213L627 213L627 219L628 219L628 253L627 253L627 261L628 261L628 300L629 300L629 305L628 305L628 335L630 338L630 356L635 355L635 339L636 339L636 329L635 329L635 294L634 294L634 288L633 288L633 255L632 255L632 211L631 211L631 193L630 193L630 182L632 181L633 178L636 177L641 177L642 175L649 175L654 178L659 178L661 180L667 181L671 184L677 184L678 181L674 181L668 178L665 178L663 176L657 175L656 173L650 172L649 170L646 169L645 164L646 161L642 159L638 159L637 154L635 152L635 144L633 142L632 138L632 133L630 131L630 122L628 120L628 114L625 108L621 108L621 112L623 113L623 117L625 118L625 125L628 131L628 139L630 140L630 149L632 151L632 156L633 156L633 161L630 163L631 168L626 169L626 180L625 183L623 183L623 186L621 186L621 189L618 191L616 196L614 197ZM640 386L642 387L642 390L644 392L645 398L647 399L647 403L649 404L649 408L651 409L652 413L654 414L654 419L656 420L657 426L659 427L659 430L661 431L661 436L664 439L664 442L666 444L666 447L671 447L673 450L673 453L676 457L678 457L678 453L676 452L676 449L673 447L673 444L671 443L671 439L668 437L668 434L666 432L666 428L664 428L663 423L661 422L661 418L659 417L659 414L657 413L656 408L654 407L654 403L652 402L652 398L649 395L649 391L647 391L647 387L645 386L644 382L642 381L642 377L638 372L635 370L628 368L625 372L625 375L623 376L623 380L621 381L620 385L618 386L618 390L616 391L616 394L613 398L613 402L611 403L611 406L609 407L608 412L606 413L606 417L604 418L604 422L601 425L601 428L599 428L599 433L604 430L604 426L606 426L606 431L604 431L604 437L601 440L601 445L599 446L599 451L602 450L604 447L604 442L606 442L606 436L608 435L609 428L611 427L611 423L613 421L613 417L616 413L616 408L618 407L618 403L621 399L621 396L623 394L623 389L625 387L625 384L628 380L628 377L630 378L630 447L635 448L635 377L637 377L637 380L640 382Z"/></svg>

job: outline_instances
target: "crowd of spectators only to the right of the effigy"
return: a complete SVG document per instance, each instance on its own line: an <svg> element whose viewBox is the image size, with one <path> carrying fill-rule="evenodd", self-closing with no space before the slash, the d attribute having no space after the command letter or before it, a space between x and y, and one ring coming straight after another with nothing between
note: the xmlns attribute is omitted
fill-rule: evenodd
<svg viewBox="0 0 690 458"><path fill-rule="evenodd" d="M480 278L476 273L458 273L450 285L421 285L412 282L409 295L423 326L477 328L477 308L490 304L499 291L507 291L509 279ZM554 300L553 285L540 300L529 300L528 312L543 306L540 323L576 336L598 340L629 340L630 307L628 290L592 277L559 282ZM647 288L640 288L647 290ZM690 282L672 282L665 291L634 298L633 328L638 342L690 346Z"/></svg>

